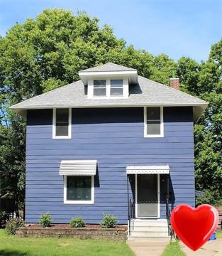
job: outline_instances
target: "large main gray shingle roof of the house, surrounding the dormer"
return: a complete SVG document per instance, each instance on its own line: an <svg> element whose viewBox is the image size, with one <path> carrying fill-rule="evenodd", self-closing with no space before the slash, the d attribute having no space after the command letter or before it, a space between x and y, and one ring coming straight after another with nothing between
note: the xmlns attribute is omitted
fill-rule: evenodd
<svg viewBox="0 0 222 256"><path fill-rule="evenodd" d="M11 109L24 115L21 110L52 107L196 106L198 113L194 119L198 119L208 104L197 97L141 76L138 76L138 85L130 85L127 99L87 99L86 88L82 80L79 80L20 102Z"/></svg>

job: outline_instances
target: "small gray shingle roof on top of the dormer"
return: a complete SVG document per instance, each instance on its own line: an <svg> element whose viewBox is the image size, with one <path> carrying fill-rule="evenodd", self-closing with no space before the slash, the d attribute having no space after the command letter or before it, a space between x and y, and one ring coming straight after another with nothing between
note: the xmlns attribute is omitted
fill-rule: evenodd
<svg viewBox="0 0 222 256"><path fill-rule="evenodd" d="M104 65L99 65L94 68L87 68L86 70L79 71L80 73L84 72L106 72L106 71L136 71L134 68L124 67L122 65L117 65L114 63L106 63Z"/></svg>

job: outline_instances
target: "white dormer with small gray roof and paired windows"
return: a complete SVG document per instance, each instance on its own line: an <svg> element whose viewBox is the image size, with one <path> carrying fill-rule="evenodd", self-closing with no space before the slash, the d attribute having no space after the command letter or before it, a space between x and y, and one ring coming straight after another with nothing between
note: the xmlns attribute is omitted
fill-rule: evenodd
<svg viewBox="0 0 222 256"><path fill-rule="evenodd" d="M138 83L137 70L114 63L81 70L79 78L87 86L88 99L128 98L129 86Z"/></svg>

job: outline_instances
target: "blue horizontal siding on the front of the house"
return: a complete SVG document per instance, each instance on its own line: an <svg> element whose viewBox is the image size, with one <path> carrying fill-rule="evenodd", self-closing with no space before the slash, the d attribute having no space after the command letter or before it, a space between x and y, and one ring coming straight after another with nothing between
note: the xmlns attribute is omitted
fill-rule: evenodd
<svg viewBox="0 0 222 256"><path fill-rule="evenodd" d="M77 216L99 223L104 213L126 223L128 164L169 164L172 205L194 206L192 107L165 107L164 122L164 138L144 138L142 107L73 109L72 139L52 139L52 110L28 110L26 221L36 223L49 211L54 223L69 223ZM64 205L62 159L97 159L94 205ZM166 183L161 175L161 218Z"/></svg>

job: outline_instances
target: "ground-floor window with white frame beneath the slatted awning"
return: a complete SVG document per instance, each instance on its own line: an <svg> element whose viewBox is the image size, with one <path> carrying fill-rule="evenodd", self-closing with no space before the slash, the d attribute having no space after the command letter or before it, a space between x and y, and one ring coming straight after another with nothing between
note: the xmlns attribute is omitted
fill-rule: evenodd
<svg viewBox="0 0 222 256"><path fill-rule="evenodd" d="M94 176L64 176L64 203L94 203Z"/></svg>

